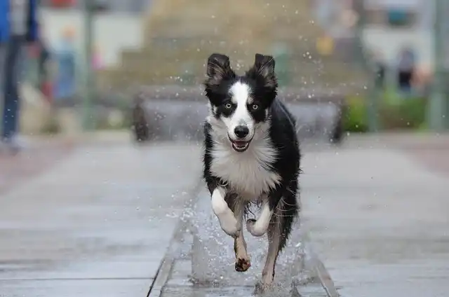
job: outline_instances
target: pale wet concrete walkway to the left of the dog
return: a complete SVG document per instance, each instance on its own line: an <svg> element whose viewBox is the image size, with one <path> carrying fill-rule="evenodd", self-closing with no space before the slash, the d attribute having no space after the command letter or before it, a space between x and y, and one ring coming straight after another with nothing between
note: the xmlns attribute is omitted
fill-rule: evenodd
<svg viewBox="0 0 449 297"><path fill-rule="evenodd" d="M146 296L199 148L89 144L0 194L0 296Z"/></svg>

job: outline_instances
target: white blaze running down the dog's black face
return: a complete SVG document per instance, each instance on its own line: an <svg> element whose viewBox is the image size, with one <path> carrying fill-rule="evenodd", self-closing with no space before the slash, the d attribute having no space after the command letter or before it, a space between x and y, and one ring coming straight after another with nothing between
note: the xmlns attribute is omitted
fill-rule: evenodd
<svg viewBox="0 0 449 297"><path fill-rule="evenodd" d="M234 133L234 129L239 125L243 125L248 127L249 130L249 134L246 138L253 138L254 120L248 111L248 104L253 102L253 99L250 97L250 86L238 81L229 89L229 94L231 95L232 102L236 104L237 107L229 118L223 119L227 126L228 134L236 139L237 137Z"/></svg>

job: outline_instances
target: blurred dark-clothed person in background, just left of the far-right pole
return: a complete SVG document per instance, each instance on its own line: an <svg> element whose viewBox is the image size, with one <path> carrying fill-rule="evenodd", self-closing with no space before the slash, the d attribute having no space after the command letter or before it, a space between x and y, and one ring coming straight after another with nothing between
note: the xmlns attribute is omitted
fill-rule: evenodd
<svg viewBox="0 0 449 297"><path fill-rule="evenodd" d="M413 74L415 73L416 57L413 49L404 47L398 55L397 78L399 90L409 94L412 90Z"/></svg>

